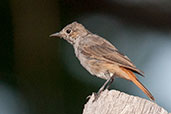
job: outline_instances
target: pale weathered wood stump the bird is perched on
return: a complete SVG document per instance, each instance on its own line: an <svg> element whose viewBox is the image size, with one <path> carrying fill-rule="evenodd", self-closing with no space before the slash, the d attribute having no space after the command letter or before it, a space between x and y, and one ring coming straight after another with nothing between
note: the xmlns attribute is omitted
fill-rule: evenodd
<svg viewBox="0 0 171 114"><path fill-rule="evenodd" d="M85 104L83 114L169 114L156 103L116 90L105 90L94 101Z"/></svg>

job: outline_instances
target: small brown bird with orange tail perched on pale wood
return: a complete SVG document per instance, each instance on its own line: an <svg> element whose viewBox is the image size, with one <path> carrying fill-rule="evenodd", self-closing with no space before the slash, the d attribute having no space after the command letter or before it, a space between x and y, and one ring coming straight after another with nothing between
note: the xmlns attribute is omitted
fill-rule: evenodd
<svg viewBox="0 0 171 114"><path fill-rule="evenodd" d="M152 94L133 73L143 76L143 72L137 69L131 60L121 54L110 42L89 32L82 24L73 22L50 37L63 38L72 44L82 66L92 75L107 80L99 89L98 94L105 89L107 84L106 88L109 88L114 77L117 76L132 81L154 101Z"/></svg>

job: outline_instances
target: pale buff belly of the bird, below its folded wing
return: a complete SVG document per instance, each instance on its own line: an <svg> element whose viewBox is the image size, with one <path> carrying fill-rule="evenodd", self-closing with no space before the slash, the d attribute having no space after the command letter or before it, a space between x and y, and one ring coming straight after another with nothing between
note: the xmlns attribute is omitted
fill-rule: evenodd
<svg viewBox="0 0 171 114"><path fill-rule="evenodd" d="M107 80L111 76L115 75L117 77L130 80L127 74L116 64L107 63L98 59L85 58L84 56L78 57L78 59L87 71L99 78Z"/></svg>

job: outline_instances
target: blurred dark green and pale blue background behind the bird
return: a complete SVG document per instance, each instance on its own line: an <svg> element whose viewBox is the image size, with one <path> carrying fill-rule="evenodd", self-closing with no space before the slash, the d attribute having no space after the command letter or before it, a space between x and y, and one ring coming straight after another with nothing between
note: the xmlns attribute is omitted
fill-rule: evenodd
<svg viewBox="0 0 171 114"><path fill-rule="evenodd" d="M73 21L128 55L171 112L170 7L169 0L1 0L0 114L82 113L104 80L82 68L70 44L49 38ZM147 98L123 79L111 89Z"/></svg>

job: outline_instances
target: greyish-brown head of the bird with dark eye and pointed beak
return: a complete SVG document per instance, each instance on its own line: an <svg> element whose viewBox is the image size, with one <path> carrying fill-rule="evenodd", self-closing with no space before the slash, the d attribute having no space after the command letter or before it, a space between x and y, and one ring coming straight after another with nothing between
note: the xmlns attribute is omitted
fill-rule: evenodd
<svg viewBox="0 0 171 114"><path fill-rule="evenodd" d="M50 35L50 37L59 37L67 40L69 43L74 44L78 38L84 37L89 33L82 24L73 22L64 27L60 32Z"/></svg>

